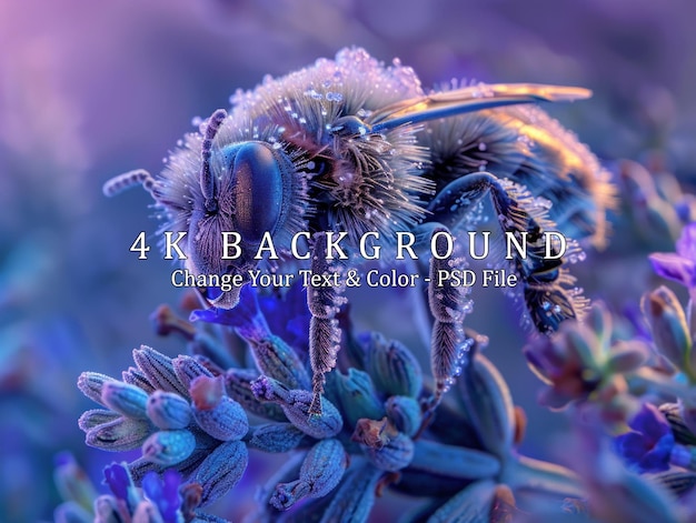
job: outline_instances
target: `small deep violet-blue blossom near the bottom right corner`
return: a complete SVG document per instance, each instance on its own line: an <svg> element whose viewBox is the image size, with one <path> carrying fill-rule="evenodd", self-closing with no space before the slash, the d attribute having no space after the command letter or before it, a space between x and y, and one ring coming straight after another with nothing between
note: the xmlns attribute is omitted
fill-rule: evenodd
<svg viewBox="0 0 696 523"><path fill-rule="evenodd" d="M628 423L633 429L616 437L618 454L638 472L662 472L669 469L675 446L674 434L659 410L645 403Z"/></svg>

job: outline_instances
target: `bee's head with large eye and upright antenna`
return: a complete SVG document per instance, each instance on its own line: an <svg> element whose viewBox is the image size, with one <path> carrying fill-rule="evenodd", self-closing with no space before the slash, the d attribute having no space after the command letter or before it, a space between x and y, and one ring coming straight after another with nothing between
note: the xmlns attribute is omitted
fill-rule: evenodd
<svg viewBox="0 0 696 523"><path fill-rule="evenodd" d="M253 257L266 233L284 231L291 210L294 165L281 149L262 141L212 143L227 117L210 117L201 148L200 197L188 223L187 268L195 274L241 274L256 268ZM207 289L213 305L233 308L240 288Z"/></svg>

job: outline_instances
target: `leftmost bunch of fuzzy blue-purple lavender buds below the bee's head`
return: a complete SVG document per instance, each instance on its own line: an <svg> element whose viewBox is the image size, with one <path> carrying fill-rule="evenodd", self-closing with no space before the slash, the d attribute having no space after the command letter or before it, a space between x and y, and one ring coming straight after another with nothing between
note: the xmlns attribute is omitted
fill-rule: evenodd
<svg viewBox="0 0 696 523"><path fill-rule="evenodd" d="M193 358L171 360L142 346L133 351L133 359L138 369L125 373L125 379L137 376L132 380L137 385L96 373L80 375L80 390L115 410L87 411L80 418L87 443L110 451L141 446L142 456L128 466L137 482L150 472L173 467L192 483L200 480L199 502L211 503L246 469L246 447L235 444L248 432L243 409L227 395L221 376L213 378ZM122 473L117 469L108 474L110 484L122 489Z"/></svg>

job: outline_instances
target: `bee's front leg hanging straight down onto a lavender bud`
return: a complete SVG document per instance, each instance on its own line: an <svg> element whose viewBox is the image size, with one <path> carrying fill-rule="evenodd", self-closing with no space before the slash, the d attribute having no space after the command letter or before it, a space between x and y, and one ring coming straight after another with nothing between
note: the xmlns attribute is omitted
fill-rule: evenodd
<svg viewBox="0 0 696 523"><path fill-rule="evenodd" d="M336 272L330 260L326 259L326 233L314 235L311 257L312 275L327 275ZM336 313L344 303L338 285L314 284L314 279L307 285L307 304L311 313L309 322L309 361L311 364L312 400L309 414L321 414L321 394L326 383L326 373L336 366L336 356L340 348L341 331L338 326Z"/></svg>

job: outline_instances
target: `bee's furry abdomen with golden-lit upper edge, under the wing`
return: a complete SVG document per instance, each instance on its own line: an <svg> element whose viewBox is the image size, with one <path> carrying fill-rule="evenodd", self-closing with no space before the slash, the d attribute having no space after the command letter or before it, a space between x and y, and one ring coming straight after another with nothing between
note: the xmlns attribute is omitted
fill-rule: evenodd
<svg viewBox="0 0 696 523"><path fill-rule="evenodd" d="M606 241L606 211L615 204L609 173L558 122L536 107L496 108L429 124L426 177L439 192L457 178L488 171L549 202L548 218L567 237Z"/></svg>

